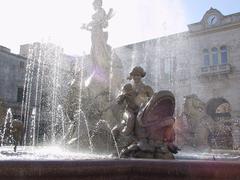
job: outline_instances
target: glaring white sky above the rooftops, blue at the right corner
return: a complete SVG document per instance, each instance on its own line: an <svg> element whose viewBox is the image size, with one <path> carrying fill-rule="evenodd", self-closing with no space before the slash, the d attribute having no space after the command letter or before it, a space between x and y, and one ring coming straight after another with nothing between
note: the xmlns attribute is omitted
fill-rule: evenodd
<svg viewBox="0 0 240 180"><path fill-rule="evenodd" d="M119 47L187 31L210 8L223 15L240 12L239 0L103 0L113 8L109 44ZM88 53L90 33L82 23L93 14L92 0L0 0L0 45L18 53L25 43L52 42L71 55Z"/></svg>

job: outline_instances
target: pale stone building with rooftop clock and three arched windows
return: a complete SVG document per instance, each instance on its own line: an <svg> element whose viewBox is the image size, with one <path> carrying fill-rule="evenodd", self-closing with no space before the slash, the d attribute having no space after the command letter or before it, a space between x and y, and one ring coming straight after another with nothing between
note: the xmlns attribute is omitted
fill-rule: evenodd
<svg viewBox="0 0 240 180"><path fill-rule="evenodd" d="M184 97L196 94L203 102L224 98L232 114L240 113L240 13L223 15L210 8L188 31L119 47L125 77L135 65L147 72L155 91L176 96L176 113Z"/></svg>

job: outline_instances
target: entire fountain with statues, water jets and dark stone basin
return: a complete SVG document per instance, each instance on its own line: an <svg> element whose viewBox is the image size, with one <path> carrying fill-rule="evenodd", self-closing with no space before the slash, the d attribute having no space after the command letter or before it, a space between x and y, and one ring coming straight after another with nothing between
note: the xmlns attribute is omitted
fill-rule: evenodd
<svg viewBox="0 0 240 180"><path fill-rule="evenodd" d="M133 67L128 77L132 82L123 85L121 59L107 44L108 33L103 30L113 10L106 13L101 0L94 0L93 6L92 21L82 25L92 35L91 53L76 58L74 70L64 69L59 47L42 43L30 49L21 120L14 120L9 109L1 133L2 144L14 144L14 151L1 147L0 178L239 177L237 161L222 161L237 160L237 154L178 152L174 143L179 137L181 143L200 151L209 145L215 122L203 112L204 103L195 95L186 97L186 117L179 119L193 117L186 120L193 124L196 119L205 120L186 128L174 118L174 94L154 93L142 82L147 75L142 67ZM193 130L198 131L195 137L191 137ZM190 137L184 139L184 133ZM17 149L17 143L24 146Z"/></svg>

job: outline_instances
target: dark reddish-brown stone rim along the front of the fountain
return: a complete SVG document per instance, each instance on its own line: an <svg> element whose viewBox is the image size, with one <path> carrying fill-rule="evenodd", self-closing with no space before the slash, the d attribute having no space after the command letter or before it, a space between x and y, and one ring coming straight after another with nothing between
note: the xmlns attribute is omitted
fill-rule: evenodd
<svg viewBox="0 0 240 180"><path fill-rule="evenodd" d="M119 179L151 177L190 179L236 179L240 177L240 162L213 160L17 160L0 161L0 178L24 179L86 178Z"/></svg>

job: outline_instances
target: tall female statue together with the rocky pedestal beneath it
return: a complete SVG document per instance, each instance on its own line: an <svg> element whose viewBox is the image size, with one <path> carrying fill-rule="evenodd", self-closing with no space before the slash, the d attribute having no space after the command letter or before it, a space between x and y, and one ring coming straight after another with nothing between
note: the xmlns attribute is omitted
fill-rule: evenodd
<svg viewBox="0 0 240 180"><path fill-rule="evenodd" d="M98 121L106 120L112 127L116 122L114 115L119 114L116 111L117 104L114 104L112 100L122 81L122 64L111 46L107 44L108 32L104 30L113 16L113 10L110 9L106 13L102 8L102 0L94 0L93 8L95 12L92 20L81 27L91 32L90 56L85 57L86 69L83 68L75 73L68 97L67 115L70 119L70 127L65 141L71 142L73 145L76 144L75 142L82 141L77 135L79 133L76 133L78 129L76 128L78 124L76 114L79 114L79 109L84 112L87 119L85 122L88 123L90 131L94 132L91 136L92 139L101 139L95 137L98 135L97 130L102 129L98 127L101 124ZM80 93L81 83L83 85ZM81 139L83 138L81 137Z"/></svg>

